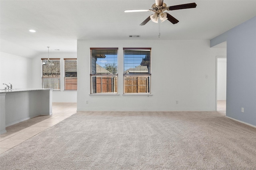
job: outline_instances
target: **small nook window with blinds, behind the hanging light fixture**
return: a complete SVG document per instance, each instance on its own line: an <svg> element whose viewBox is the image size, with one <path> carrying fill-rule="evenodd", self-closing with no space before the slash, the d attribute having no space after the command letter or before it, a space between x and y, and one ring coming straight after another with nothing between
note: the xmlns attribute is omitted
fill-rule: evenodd
<svg viewBox="0 0 256 170"><path fill-rule="evenodd" d="M42 88L60 90L60 59L41 59L42 63Z"/></svg>

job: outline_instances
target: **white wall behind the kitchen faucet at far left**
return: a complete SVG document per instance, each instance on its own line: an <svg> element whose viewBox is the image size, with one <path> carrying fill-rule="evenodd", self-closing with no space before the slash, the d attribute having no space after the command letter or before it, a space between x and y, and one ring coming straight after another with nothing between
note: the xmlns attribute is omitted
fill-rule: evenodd
<svg viewBox="0 0 256 170"><path fill-rule="evenodd" d="M3 83L12 88L32 88L32 59L0 53L0 89L6 87Z"/></svg>

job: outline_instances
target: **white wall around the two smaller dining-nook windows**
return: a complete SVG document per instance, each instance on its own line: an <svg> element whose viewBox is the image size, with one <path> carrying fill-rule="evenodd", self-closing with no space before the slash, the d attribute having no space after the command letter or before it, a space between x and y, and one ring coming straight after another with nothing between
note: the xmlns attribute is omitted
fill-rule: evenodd
<svg viewBox="0 0 256 170"><path fill-rule="evenodd" d="M76 90L64 90L64 58L76 58L76 53L61 53L50 51L50 58L60 59L60 90L53 90L52 102L76 102ZM41 59L48 58L48 53L42 53L32 59L33 63L33 87L41 88Z"/></svg>

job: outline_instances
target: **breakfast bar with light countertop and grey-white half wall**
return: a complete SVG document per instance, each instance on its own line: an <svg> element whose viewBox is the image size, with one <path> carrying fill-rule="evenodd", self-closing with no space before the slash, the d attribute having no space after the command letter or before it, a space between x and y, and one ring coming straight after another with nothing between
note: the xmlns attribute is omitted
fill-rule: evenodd
<svg viewBox="0 0 256 170"><path fill-rule="evenodd" d="M38 115L52 115L52 89L0 90L0 134L6 127Z"/></svg>

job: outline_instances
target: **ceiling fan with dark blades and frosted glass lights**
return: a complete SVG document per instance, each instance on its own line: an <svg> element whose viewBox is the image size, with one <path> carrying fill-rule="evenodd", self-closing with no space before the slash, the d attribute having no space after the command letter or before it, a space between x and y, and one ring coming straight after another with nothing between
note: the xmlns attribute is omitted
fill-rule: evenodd
<svg viewBox="0 0 256 170"><path fill-rule="evenodd" d="M156 3L152 5L151 10L125 10L124 12L148 12L148 11L154 12L154 14L150 15L140 25L145 25L149 20L152 20L153 22L158 23L158 19L161 20L161 22L168 20L171 23L175 24L175 23L178 23L179 21L164 11L165 10L167 11L181 10L181 9L187 9L187 8L196 8L196 3L166 6L166 4L164 3L164 0L156 0Z"/></svg>

